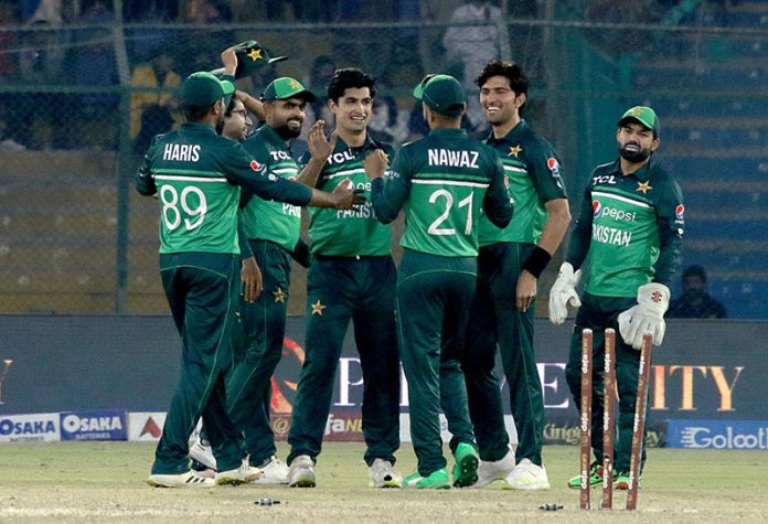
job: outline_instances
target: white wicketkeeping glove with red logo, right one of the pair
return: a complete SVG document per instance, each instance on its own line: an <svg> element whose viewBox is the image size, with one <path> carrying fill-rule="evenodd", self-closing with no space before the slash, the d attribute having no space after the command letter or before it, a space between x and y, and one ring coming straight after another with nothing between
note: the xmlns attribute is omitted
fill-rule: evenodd
<svg viewBox="0 0 768 524"><path fill-rule="evenodd" d="M619 333L629 345L642 347L642 335L651 333L653 345L661 345L666 331L664 312L670 307L670 288L650 282L638 288L638 304L619 314Z"/></svg>

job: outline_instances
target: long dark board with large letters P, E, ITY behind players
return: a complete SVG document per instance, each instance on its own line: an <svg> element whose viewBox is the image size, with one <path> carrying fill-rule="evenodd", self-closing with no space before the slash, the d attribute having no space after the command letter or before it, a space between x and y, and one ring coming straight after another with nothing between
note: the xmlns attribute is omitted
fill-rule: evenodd
<svg viewBox="0 0 768 524"><path fill-rule="evenodd" d="M570 325L535 321L547 423L577 417L565 379ZM760 396L768 383L768 366L761 356L768 351L767 328L767 321L668 320L662 351L654 352L651 367L649 424L768 420L768 403ZM148 338L137 340L137 330L149 333ZM0 417L115 407L159 413L168 409L177 388L180 357L178 351L169 350L179 346L179 333L170 317L0 316L0 332L6 335L0 347ZM296 400L305 360L303 334L305 318L290 317L282 359L273 377L273 409L280 414L290 414ZM52 353L51 347L61 351ZM100 357L94 360L94 354ZM61 381L61 376L77 376L82 362L89 363L88 381ZM509 387L503 374L499 376L509 414ZM334 375L331 411L360 413L362 397L362 370L350 329ZM399 399L406 413L404 379ZM162 427L161 420L154 424ZM285 426L285 420L280 424Z"/></svg>

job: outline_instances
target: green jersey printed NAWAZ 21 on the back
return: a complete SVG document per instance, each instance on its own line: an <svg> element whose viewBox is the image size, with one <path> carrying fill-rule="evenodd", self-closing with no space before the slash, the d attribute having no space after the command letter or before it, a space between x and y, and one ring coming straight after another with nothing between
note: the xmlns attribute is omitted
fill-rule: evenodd
<svg viewBox="0 0 768 524"><path fill-rule="evenodd" d="M401 245L431 255L476 257L481 210L499 227L512 218L499 157L462 129L435 129L403 146L371 197L385 223L405 207Z"/></svg>

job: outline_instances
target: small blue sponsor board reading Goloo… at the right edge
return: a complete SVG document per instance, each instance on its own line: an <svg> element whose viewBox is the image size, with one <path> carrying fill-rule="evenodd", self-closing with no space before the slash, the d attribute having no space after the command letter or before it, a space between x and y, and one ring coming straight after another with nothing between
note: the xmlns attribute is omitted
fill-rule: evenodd
<svg viewBox="0 0 768 524"><path fill-rule="evenodd" d="M768 449L768 420L670 420L670 448Z"/></svg>

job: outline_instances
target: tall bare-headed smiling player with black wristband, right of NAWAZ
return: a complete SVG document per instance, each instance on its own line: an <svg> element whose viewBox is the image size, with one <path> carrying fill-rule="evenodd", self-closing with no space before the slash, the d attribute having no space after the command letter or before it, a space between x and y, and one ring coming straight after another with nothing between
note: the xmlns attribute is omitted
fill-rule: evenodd
<svg viewBox="0 0 768 524"><path fill-rule="evenodd" d="M520 113L529 81L519 64L491 61L477 79L480 106L492 127L486 143L499 153L514 201L512 222L499 229L480 217L478 289L467 329L463 364L469 414L482 460L476 488L546 490L542 462L544 402L533 349L537 279L570 222L561 163L552 146ZM504 427L497 344L518 430L513 453Z"/></svg>

